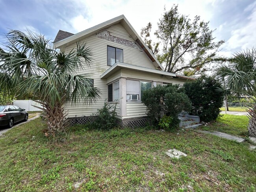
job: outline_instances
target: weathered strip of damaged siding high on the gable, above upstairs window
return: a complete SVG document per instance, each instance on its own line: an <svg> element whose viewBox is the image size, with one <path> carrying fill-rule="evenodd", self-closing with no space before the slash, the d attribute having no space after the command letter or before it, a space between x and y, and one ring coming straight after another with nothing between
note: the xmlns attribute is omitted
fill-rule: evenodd
<svg viewBox="0 0 256 192"><path fill-rule="evenodd" d="M108 41L113 41L113 42L116 42L116 43L119 43L119 44L122 44L122 45L125 45L125 46L128 46L128 47L132 47L132 48L141 50L135 42L110 35L109 31L102 31L102 32L96 34L96 37L98 37L100 39L106 39Z"/></svg>

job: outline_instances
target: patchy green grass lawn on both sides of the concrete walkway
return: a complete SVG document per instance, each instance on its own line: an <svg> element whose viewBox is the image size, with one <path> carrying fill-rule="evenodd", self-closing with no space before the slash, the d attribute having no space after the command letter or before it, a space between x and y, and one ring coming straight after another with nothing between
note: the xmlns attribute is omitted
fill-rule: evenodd
<svg viewBox="0 0 256 192"><path fill-rule="evenodd" d="M215 127L245 130L246 121L235 120L239 117L223 116ZM37 118L0 138L0 191L256 190L256 151L247 142L193 130L84 126L53 141L43 136L44 127ZM165 151L172 148L187 157L171 159Z"/></svg>

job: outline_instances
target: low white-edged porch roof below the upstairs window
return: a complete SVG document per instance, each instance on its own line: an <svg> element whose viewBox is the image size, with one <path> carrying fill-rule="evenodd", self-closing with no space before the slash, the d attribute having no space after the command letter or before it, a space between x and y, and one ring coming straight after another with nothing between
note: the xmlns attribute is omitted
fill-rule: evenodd
<svg viewBox="0 0 256 192"><path fill-rule="evenodd" d="M137 66L137 65L132 65L128 63L119 63L119 62L115 63L110 68L108 68L108 70L106 70L103 74L101 74L100 79L108 78L109 76L111 76L113 73L117 72L120 69L128 69L128 70L140 71L144 73L158 74L158 75L165 76L167 79L171 79L171 78L182 78L182 79L191 79L191 80L195 79L187 76L177 75L174 73L160 71L157 69L151 69L143 66Z"/></svg>

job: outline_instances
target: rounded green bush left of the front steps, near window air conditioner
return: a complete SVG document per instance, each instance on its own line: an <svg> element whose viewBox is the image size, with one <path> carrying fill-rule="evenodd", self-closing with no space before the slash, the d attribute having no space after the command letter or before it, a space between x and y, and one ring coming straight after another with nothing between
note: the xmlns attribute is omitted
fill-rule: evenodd
<svg viewBox="0 0 256 192"><path fill-rule="evenodd" d="M142 102L147 106L147 115L158 124L163 116L172 118L168 129L178 127L181 111L190 111L191 102L179 85L157 86L143 92Z"/></svg>

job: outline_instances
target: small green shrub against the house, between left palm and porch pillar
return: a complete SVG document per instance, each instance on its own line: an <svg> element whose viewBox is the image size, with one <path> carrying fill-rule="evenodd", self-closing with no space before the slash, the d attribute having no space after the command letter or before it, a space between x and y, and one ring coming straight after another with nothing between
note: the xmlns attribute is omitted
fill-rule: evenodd
<svg viewBox="0 0 256 192"><path fill-rule="evenodd" d="M108 103L105 101L104 106L102 109L97 109L97 113L93 113L93 116L96 116L95 120L88 124L91 129L102 129L102 130L109 130L117 127L116 118L116 103Z"/></svg>

